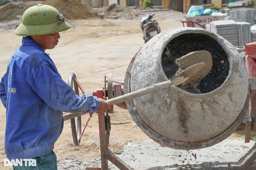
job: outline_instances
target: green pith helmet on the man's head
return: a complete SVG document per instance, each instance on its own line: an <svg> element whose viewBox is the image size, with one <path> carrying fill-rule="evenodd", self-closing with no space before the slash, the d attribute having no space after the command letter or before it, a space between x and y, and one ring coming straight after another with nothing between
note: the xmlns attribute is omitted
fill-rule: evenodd
<svg viewBox="0 0 256 170"><path fill-rule="evenodd" d="M45 35L62 32L71 26L61 18L59 11L50 6L38 4L28 8L23 16L22 22L15 30L16 35Z"/></svg>

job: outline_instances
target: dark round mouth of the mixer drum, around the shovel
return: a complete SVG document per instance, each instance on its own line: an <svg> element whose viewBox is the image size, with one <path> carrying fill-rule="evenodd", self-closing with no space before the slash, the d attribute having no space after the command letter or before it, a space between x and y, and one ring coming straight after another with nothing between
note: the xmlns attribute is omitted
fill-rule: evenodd
<svg viewBox="0 0 256 170"><path fill-rule="evenodd" d="M178 87L191 93L208 93L218 88L226 79L229 71L229 61L221 45L206 34L187 33L173 38L164 48L162 54L162 67L168 79L175 76L180 66L176 59L194 51L208 51L212 56L210 72L196 86Z"/></svg>

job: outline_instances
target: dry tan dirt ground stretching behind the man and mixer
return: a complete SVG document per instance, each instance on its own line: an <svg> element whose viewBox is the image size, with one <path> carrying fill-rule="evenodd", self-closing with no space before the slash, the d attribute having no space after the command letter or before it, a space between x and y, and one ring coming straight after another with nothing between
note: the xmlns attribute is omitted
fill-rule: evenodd
<svg viewBox="0 0 256 170"><path fill-rule="evenodd" d="M77 26L61 32L59 44L55 49L47 50L55 62L63 79L68 82L69 73L74 72L77 80L85 90L92 94L99 87L103 87L104 74L112 73L113 80L123 82L128 64L136 52L144 45L140 20L142 15L155 13L154 19L159 22L161 31L183 27L180 20L185 14L176 11L140 12L140 16L126 19L84 19L70 20ZM6 22L1 22L4 24ZM12 30L0 31L0 75L6 71L6 65L21 45L21 36ZM114 83L115 84L115 83ZM0 105L0 162L6 159L4 151L5 108ZM88 115L82 115L82 128ZM150 139L142 132L131 118L129 111L114 106L111 114L111 132L109 149L113 152L121 149L129 141L145 141ZM229 138L244 135L243 130L237 130ZM252 137L255 137L252 132ZM241 139L244 140L244 139ZM64 161L66 157L76 156L79 160L93 160L100 157L98 116L93 114L81 138L81 144L75 147L72 141L70 121L64 122L64 129L55 143L54 151L57 157ZM3 162L0 169L5 169Z"/></svg>

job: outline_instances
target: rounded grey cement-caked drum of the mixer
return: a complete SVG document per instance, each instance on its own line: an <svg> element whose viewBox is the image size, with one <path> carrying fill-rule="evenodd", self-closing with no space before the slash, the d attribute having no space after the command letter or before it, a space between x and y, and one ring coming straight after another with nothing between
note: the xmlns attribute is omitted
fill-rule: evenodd
<svg viewBox="0 0 256 170"><path fill-rule="evenodd" d="M180 68L175 59L201 50L212 56L211 71L201 81L172 85L126 102L136 124L163 146L215 145L245 117L250 93L245 63L231 43L201 28L169 29L147 42L127 69L124 93L171 79Z"/></svg>

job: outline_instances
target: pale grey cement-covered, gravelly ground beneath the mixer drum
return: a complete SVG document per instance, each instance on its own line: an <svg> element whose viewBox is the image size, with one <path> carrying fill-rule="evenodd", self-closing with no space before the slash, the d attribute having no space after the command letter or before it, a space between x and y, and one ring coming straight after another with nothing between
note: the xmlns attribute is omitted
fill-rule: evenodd
<svg viewBox="0 0 256 170"><path fill-rule="evenodd" d="M179 150L163 147L153 140L128 142L116 156L130 167L138 170L169 170L187 165L203 166L203 163L237 162L255 144L255 140L244 143L244 140L225 139L208 148L195 150ZM179 166L180 165L180 166ZM84 170L85 167L101 167L101 159L79 161L75 156L67 157L64 162L58 161L59 170ZM108 168L118 168L108 161ZM191 168L189 168L191 169Z"/></svg>

